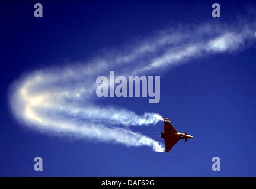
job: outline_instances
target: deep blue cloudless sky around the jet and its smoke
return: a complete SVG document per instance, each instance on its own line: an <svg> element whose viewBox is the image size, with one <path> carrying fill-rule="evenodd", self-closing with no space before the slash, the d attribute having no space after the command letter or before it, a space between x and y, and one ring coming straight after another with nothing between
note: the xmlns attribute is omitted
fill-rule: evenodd
<svg viewBox="0 0 256 189"><path fill-rule="evenodd" d="M130 49L170 25L252 21L254 2L219 1L221 18L212 18L212 1L41 1L43 18L34 18L35 3L1 2L0 6L0 176L255 176L253 41L236 51L189 58L184 65L150 73L161 76L161 100L157 104L149 104L145 97L100 99L103 106L118 105L139 115L159 113L178 131L194 136L185 144L178 142L169 154L153 152L148 146L127 147L37 132L14 118L8 100L9 86L33 70L78 61L86 66L91 58L125 51L127 46ZM162 141L162 122L131 129ZM41 172L33 169L36 156L43 158ZM212 171L215 156L221 159L221 171Z"/></svg>

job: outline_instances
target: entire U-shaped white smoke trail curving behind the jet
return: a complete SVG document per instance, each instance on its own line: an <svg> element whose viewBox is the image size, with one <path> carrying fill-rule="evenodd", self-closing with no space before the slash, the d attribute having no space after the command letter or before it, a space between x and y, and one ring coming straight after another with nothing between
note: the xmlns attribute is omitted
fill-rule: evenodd
<svg viewBox="0 0 256 189"><path fill-rule="evenodd" d="M107 57L95 58L91 63L37 70L21 77L10 90L11 110L20 122L43 132L149 146L162 152L164 145L127 127L156 124L162 117L157 113L137 115L120 107L97 105L95 79L112 70L119 70L123 76L135 76L178 66L191 58L232 53L249 47L254 37L254 29L247 23L236 27L202 24L161 31L127 54L107 53ZM117 127L121 125L126 127Z"/></svg>

